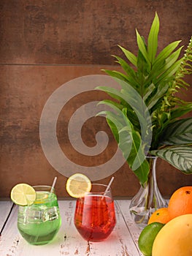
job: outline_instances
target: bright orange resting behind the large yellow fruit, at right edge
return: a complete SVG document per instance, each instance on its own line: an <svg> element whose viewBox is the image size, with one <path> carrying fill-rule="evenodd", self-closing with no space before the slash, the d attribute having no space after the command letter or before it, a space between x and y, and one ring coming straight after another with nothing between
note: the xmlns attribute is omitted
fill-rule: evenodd
<svg viewBox="0 0 192 256"><path fill-rule="evenodd" d="M170 219L183 214L192 214L192 187L180 187L169 200L168 213Z"/></svg>

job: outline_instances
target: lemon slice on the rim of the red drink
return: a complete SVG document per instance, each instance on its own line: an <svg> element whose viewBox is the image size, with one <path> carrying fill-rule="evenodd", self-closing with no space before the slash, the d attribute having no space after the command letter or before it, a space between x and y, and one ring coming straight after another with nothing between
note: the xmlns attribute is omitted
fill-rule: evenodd
<svg viewBox="0 0 192 256"><path fill-rule="evenodd" d="M66 191L71 197L83 197L91 191L91 181L82 173L74 173L66 181Z"/></svg>

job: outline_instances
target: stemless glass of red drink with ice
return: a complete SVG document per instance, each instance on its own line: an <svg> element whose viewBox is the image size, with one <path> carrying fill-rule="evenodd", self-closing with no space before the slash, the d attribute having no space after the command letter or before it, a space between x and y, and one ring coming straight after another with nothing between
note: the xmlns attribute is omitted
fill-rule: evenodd
<svg viewBox="0 0 192 256"><path fill-rule="evenodd" d="M92 184L91 192L77 198L74 225L87 241L103 241L115 227L115 207L110 187Z"/></svg>

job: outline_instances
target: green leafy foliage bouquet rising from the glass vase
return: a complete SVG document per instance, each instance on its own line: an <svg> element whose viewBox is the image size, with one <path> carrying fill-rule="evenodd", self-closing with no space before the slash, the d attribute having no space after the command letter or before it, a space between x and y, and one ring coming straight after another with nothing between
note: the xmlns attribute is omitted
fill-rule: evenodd
<svg viewBox="0 0 192 256"><path fill-rule="evenodd" d="M192 102L178 97L178 92L189 86L183 78L192 72L192 38L180 58L180 41L157 53L158 31L155 13L147 43L136 30L137 56L119 46L126 61L114 57L123 72L104 69L118 81L120 90L96 88L112 97L99 102L111 108L99 115L106 116L123 156L142 186L150 171L146 154L164 159L185 174L192 173L192 118L181 118L192 110Z"/></svg>

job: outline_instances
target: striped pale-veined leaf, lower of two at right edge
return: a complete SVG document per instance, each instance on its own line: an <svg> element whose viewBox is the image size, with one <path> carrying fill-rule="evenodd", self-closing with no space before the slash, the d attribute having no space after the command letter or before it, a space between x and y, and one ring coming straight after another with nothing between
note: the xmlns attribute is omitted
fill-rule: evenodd
<svg viewBox="0 0 192 256"><path fill-rule="evenodd" d="M192 174L192 147L191 146L169 146L159 150L150 151L170 165L181 170L185 174Z"/></svg>

